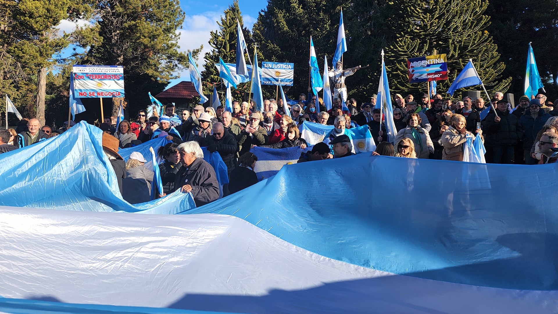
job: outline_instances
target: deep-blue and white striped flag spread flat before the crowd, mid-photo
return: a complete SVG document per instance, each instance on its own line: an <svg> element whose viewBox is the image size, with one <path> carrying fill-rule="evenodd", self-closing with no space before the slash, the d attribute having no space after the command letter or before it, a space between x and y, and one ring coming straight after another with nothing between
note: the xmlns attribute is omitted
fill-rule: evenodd
<svg viewBox="0 0 558 314"><path fill-rule="evenodd" d="M299 161L300 154L307 150L308 148L301 149L300 146L281 149L255 146L250 151L258 157L254 167L258 181L272 177L284 165L296 164Z"/></svg>

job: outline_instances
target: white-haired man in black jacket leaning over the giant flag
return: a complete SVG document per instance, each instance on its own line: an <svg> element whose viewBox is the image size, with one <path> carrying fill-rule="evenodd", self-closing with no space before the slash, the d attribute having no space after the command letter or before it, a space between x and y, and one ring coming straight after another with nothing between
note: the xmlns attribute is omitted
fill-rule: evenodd
<svg viewBox="0 0 558 314"><path fill-rule="evenodd" d="M219 198L219 182L213 167L204 160L204 152L196 141L178 146L182 167L176 174L174 189L192 193L196 207ZM172 191L174 192L174 191ZM166 194L163 194L165 196Z"/></svg>

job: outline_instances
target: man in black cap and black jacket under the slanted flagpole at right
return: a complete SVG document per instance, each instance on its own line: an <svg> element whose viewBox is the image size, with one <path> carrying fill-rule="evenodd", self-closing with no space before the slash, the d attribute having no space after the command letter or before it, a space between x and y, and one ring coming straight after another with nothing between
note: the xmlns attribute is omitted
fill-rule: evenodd
<svg viewBox="0 0 558 314"><path fill-rule="evenodd" d="M519 126L519 119L509 113L507 100L499 100L496 110L498 116L490 111L484 124L487 161L494 164L511 164L514 146L523 136L523 130Z"/></svg>

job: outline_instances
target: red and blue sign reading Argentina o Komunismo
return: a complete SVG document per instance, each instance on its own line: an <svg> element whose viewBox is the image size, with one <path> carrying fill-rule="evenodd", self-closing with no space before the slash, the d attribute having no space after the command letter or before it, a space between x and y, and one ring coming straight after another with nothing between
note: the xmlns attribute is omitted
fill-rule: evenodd
<svg viewBox="0 0 558 314"><path fill-rule="evenodd" d="M448 79L446 54L407 59L409 83Z"/></svg>

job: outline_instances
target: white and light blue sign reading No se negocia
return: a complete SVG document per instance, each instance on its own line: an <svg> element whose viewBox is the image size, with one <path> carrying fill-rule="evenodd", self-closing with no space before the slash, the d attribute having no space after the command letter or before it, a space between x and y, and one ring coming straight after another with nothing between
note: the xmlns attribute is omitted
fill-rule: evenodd
<svg viewBox="0 0 558 314"><path fill-rule="evenodd" d="M74 97L124 97L121 65L74 65Z"/></svg>

